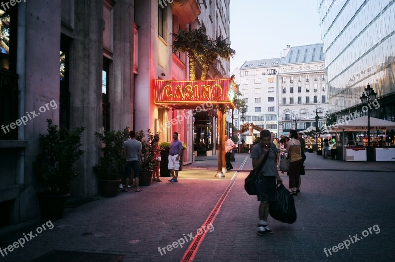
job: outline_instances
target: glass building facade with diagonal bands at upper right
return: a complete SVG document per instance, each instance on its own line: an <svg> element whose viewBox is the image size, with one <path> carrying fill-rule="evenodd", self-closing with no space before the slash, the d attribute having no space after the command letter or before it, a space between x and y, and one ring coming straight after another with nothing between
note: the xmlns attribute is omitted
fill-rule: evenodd
<svg viewBox="0 0 395 262"><path fill-rule="evenodd" d="M337 119L361 112L360 96L370 84L380 104L371 116L395 121L394 0L318 0L318 12L329 112Z"/></svg>

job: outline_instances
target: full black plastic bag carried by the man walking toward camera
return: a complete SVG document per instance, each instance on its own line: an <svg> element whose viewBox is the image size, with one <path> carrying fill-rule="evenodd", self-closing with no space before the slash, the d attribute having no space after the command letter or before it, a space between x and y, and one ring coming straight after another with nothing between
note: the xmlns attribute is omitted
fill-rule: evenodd
<svg viewBox="0 0 395 262"><path fill-rule="evenodd" d="M282 183L276 187L276 199L269 204L269 214L275 220L284 223L296 221L295 202Z"/></svg>

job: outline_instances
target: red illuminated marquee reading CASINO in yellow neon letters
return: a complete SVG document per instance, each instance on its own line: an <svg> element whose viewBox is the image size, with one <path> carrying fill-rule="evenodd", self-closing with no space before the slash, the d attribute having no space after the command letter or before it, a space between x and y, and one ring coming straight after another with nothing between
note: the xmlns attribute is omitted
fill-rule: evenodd
<svg viewBox="0 0 395 262"><path fill-rule="evenodd" d="M225 104L235 108L235 85L233 79L207 81L155 80L154 103L173 105L177 108L191 108L205 102Z"/></svg>

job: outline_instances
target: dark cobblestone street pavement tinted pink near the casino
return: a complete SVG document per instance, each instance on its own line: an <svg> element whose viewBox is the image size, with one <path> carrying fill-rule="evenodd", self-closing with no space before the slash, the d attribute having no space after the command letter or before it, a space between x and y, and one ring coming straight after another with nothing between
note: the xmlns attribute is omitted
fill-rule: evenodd
<svg viewBox="0 0 395 262"><path fill-rule="evenodd" d="M197 160L202 161L184 168L215 175L216 159ZM256 234L259 202L243 187L251 170L249 155L237 154L233 166L245 172L237 172L231 181L180 178L170 183L163 178L140 193L119 192L114 198L67 208L64 218L51 221L53 229L4 257L0 254L0 261L31 261L54 249L124 254L124 261L180 261L190 241L166 249L166 254L162 250L162 255L158 248L194 236L219 199L223 204L212 230L199 243L195 261L395 260L395 163L341 162L307 154L301 193L294 197L297 221L268 218L273 235L264 237ZM281 177L288 186L287 176ZM38 218L0 229L0 248L45 222ZM334 252L333 246L354 240L356 234L360 240ZM325 255L324 248L332 248L331 254Z"/></svg>

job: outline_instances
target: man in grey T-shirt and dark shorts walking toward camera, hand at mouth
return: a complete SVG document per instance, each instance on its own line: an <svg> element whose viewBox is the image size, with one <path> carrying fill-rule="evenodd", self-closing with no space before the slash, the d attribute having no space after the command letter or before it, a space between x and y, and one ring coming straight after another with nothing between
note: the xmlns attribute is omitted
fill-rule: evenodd
<svg viewBox="0 0 395 262"><path fill-rule="evenodd" d="M258 201L261 202L259 204L258 235L264 236L266 234L272 234L266 222L269 213L269 203L275 200L276 179L277 183L282 183L282 179L276 167L277 148L271 142L270 131L266 129L262 130L259 133L259 137L261 141L252 147L251 158L254 169L257 169L262 161L265 161L261 170L256 170L258 176L257 197Z"/></svg>

